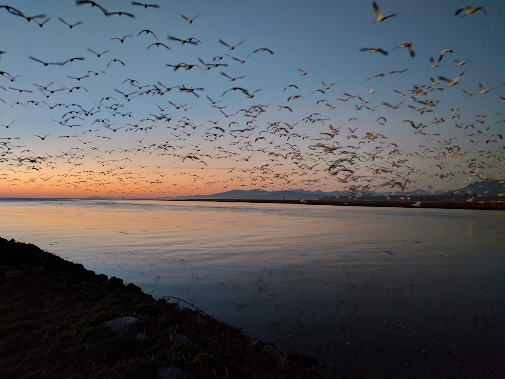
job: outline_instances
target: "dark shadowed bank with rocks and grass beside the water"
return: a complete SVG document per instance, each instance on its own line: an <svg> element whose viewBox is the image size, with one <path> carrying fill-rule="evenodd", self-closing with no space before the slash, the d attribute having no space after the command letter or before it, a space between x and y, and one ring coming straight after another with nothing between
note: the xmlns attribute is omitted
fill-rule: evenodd
<svg viewBox="0 0 505 379"><path fill-rule="evenodd" d="M204 312L2 238L0 293L2 378L339 377Z"/></svg>

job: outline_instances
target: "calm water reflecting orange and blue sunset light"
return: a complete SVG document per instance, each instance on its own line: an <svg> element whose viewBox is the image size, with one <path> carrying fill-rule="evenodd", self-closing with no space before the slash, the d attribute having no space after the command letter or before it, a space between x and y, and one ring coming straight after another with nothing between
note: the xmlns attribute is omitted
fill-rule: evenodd
<svg viewBox="0 0 505 379"><path fill-rule="evenodd" d="M497 211L0 200L4 238L363 377L500 372L504 226Z"/></svg>

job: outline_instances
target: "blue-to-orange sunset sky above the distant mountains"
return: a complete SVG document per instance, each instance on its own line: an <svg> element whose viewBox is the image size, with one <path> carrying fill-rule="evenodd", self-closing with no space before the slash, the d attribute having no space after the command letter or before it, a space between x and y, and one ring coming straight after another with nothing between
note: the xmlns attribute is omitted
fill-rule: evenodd
<svg viewBox="0 0 505 379"><path fill-rule="evenodd" d="M503 179L503 2L98 4L0 8L0 197Z"/></svg>

